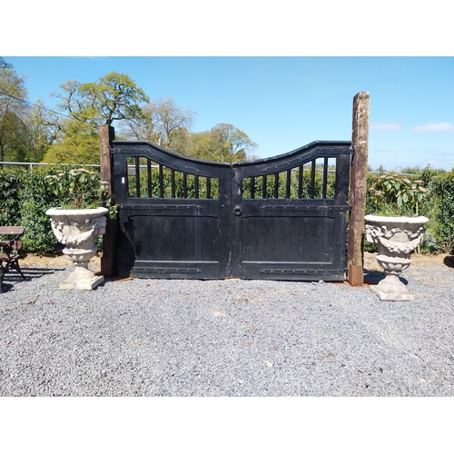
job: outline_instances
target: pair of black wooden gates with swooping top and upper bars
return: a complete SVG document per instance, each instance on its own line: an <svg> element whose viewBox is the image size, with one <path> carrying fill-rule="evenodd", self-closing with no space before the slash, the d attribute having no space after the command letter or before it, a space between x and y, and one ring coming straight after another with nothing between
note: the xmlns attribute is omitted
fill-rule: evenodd
<svg viewBox="0 0 454 454"><path fill-rule="evenodd" d="M342 281L350 142L244 163L114 141L116 274Z"/></svg>

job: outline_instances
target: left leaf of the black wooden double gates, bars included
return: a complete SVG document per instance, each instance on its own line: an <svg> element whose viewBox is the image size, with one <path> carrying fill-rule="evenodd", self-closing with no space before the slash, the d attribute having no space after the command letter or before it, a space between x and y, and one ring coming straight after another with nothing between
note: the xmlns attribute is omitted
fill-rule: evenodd
<svg viewBox="0 0 454 454"><path fill-rule="evenodd" d="M118 276L224 278L230 166L188 159L152 143L114 141L113 156Z"/></svg>

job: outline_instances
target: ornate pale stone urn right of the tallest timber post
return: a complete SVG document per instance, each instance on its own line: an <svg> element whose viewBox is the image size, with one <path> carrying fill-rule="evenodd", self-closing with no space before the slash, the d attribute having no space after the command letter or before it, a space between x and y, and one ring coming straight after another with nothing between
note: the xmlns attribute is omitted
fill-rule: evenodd
<svg viewBox="0 0 454 454"><path fill-rule="evenodd" d="M379 254L375 257L386 273L378 285L370 286L382 301L413 301L414 295L400 281L402 271L409 268L410 253L422 242L425 216L375 216L366 220L366 240L377 244Z"/></svg>

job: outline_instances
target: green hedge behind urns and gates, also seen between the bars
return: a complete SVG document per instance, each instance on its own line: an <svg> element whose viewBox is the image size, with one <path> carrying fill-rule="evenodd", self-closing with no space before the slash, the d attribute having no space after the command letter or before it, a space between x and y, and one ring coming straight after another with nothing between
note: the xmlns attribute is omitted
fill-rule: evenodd
<svg viewBox="0 0 454 454"><path fill-rule="evenodd" d="M79 166L77 166L79 167ZM34 168L33 170L21 167L6 167L0 168L0 225L24 225L25 234L23 236L25 252L35 252L39 254L52 254L55 251L56 240L51 230L50 219L45 214L48 208L61 206L64 202L69 202L64 197L57 196L49 184L46 183L48 175L55 175L57 173L69 172L71 168L76 166L43 166ZM284 176L284 175L283 175ZM280 178L279 196L285 196L285 178ZM303 175L303 196L308 196L306 192L309 191L308 183L306 182L308 175ZM291 194L298 191L297 173L291 175ZM397 181L396 175L392 178ZM134 176L130 176L130 190L135 187ZM429 218L429 223L426 224L426 235L424 242L421 245L423 252L446 252L450 253L454 250L454 170L451 173L440 173L433 171L429 167L424 169L417 175L410 175L409 177L399 176L399 179L406 179L409 183L404 182L407 190L411 190L413 183L421 180L424 184L422 187L427 187L430 192L424 191L426 195L421 199L404 199L404 192L400 192L402 204L406 204L408 214L414 214L416 203L418 202L418 212ZM85 194L92 194L94 199L99 198L99 173L95 177L88 178L84 182ZM376 175L368 175L368 188L374 188L374 191L367 192L366 199L366 213L371 214L377 211L377 178ZM49 179L47 179L49 181ZM169 182L170 175L164 174L164 196L169 196L170 188ZM390 183L390 179L382 178L380 182ZM206 182L205 182L206 183ZM217 181L212 180L212 193L216 194L218 191ZM395 182L396 183L396 182ZM331 183L330 183L331 184ZM255 181L256 196L262 192L262 182L260 179ZM392 188L390 188L392 189ZM147 182L141 175L141 196L146 197L148 194ZM183 196L183 178L176 179L177 196ZM379 189L380 190L380 189ZM200 182L200 191L206 192L203 187L202 180ZM273 179L267 180L266 192L267 196L272 197L274 191ZM400 188L396 185L392 189L395 194L399 193ZM187 196L192 197L194 192L193 176L188 177L187 181ZM245 182L244 192L246 197L251 196L251 182ZM317 177L315 182L316 196L321 193L321 178ZM328 188L328 192L333 192L332 188ZM384 191L383 191L384 192ZM135 196L135 194L131 194ZM411 194L407 194L410 197ZM158 175L153 173L153 196L159 197L159 179ZM201 195L202 196L202 195ZM216 197L217 195L214 195ZM399 197L399 195L397 196ZM384 199L382 199L384 200ZM410 201L410 202L409 202ZM390 212L395 212L398 207L397 198L386 202L390 208ZM393 206L396 205L396 206ZM401 209L402 207L400 207ZM101 244L101 242L99 242ZM370 243L366 244L366 248L373 247Z"/></svg>

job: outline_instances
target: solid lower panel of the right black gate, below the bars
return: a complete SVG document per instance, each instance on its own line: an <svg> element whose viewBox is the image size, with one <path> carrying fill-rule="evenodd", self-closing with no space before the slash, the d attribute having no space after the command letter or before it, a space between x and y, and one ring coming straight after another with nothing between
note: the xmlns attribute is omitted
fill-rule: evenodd
<svg viewBox="0 0 454 454"><path fill-rule="evenodd" d="M342 281L345 234L336 238L341 213L288 214L243 218L242 278Z"/></svg>

